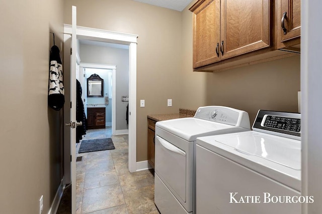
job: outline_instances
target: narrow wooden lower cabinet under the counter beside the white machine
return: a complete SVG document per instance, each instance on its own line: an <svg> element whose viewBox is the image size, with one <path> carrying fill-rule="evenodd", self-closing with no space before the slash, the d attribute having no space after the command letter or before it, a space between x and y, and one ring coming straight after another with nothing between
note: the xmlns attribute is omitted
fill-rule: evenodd
<svg viewBox="0 0 322 214"><path fill-rule="evenodd" d="M156 121L147 119L147 162L154 169L154 148L155 148L155 123Z"/></svg>

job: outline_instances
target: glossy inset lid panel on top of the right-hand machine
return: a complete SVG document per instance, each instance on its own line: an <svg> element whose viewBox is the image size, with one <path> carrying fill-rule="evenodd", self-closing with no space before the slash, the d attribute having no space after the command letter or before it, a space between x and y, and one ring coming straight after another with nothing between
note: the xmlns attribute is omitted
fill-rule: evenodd
<svg viewBox="0 0 322 214"><path fill-rule="evenodd" d="M288 138L250 134L230 139L218 137L215 141L247 155L255 155L295 170L301 169L301 144Z"/></svg>

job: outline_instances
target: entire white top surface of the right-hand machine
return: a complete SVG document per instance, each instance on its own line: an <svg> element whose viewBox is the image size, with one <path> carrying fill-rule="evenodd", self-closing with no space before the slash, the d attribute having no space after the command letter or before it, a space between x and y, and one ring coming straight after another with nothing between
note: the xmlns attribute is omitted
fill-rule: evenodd
<svg viewBox="0 0 322 214"><path fill-rule="evenodd" d="M270 145L271 144L271 145ZM301 190L301 141L246 131L197 138L197 145Z"/></svg>

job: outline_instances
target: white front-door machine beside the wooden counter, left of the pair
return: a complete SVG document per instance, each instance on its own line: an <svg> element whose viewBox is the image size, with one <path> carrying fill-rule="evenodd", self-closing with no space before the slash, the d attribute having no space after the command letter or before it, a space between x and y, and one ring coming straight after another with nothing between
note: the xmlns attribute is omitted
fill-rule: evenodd
<svg viewBox="0 0 322 214"><path fill-rule="evenodd" d="M194 117L155 124L154 202L163 214L194 210L194 157L197 137L250 130L245 111L198 108Z"/></svg>

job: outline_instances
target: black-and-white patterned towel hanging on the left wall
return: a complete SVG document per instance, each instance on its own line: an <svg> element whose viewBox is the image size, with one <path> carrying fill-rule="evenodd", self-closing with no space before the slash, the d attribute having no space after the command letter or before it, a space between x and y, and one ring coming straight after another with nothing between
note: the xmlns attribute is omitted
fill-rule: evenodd
<svg viewBox="0 0 322 214"><path fill-rule="evenodd" d="M65 103L62 63L59 52L60 51L57 46L54 45L51 47L49 59L48 105L56 111L59 111Z"/></svg>

